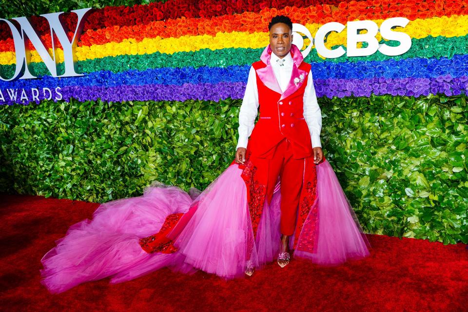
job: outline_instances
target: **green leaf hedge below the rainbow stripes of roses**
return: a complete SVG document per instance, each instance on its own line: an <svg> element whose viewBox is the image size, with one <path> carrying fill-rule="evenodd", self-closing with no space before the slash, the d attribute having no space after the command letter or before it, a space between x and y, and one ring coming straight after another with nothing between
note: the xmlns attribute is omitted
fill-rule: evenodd
<svg viewBox="0 0 468 312"><path fill-rule="evenodd" d="M154 180L204 189L241 101L0 107L0 190L103 202ZM468 243L467 97L320 98L322 144L370 233Z"/></svg>

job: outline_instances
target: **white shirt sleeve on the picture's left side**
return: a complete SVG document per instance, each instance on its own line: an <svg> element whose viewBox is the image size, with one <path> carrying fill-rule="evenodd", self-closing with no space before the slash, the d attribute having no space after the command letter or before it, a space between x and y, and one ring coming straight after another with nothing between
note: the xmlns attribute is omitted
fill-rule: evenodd
<svg viewBox="0 0 468 312"><path fill-rule="evenodd" d="M247 142L249 137L254 130L255 118L258 114L258 89L257 89L257 78L255 69L253 66L250 67L249 78L247 80L247 86L245 87L245 94L242 100L242 105L239 111L239 139L237 140L237 148L247 148Z"/></svg>

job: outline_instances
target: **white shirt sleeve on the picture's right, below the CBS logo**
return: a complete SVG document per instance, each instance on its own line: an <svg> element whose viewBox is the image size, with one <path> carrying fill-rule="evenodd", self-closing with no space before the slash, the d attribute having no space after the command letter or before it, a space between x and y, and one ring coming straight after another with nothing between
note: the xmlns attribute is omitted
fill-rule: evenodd
<svg viewBox="0 0 468 312"><path fill-rule="evenodd" d="M307 86L304 90L304 119L311 133L312 147L322 147L320 131L322 130L322 112L317 103L315 88L313 87L312 71L309 72Z"/></svg>

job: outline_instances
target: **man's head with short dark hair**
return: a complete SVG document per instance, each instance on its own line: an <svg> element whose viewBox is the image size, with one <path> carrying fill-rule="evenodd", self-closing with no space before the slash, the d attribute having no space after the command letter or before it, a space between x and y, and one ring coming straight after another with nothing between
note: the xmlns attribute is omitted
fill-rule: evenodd
<svg viewBox="0 0 468 312"><path fill-rule="evenodd" d="M290 18L278 15L270 24L270 47L273 53L280 59L288 55L292 44L292 21Z"/></svg>

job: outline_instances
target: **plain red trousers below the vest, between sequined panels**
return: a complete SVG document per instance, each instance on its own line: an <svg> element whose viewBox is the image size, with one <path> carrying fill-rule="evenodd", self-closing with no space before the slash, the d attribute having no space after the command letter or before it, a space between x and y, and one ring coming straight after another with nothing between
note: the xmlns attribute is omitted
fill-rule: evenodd
<svg viewBox="0 0 468 312"><path fill-rule="evenodd" d="M304 177L304 158L292 157L292 145L286 138L275 147L271 159L252 159L261 176L267 184L266 199L270 203L274 187L281 181L281 221L280 231L284 235L292 235L296 226L299 195Z"/></svg>

